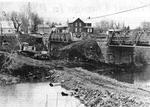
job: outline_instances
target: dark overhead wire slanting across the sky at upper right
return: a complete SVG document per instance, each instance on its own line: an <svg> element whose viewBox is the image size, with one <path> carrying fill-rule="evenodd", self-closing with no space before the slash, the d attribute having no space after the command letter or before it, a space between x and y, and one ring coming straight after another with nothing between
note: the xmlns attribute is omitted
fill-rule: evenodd
<svg viewBox="0 0 150 107"><path fill-rule="evenodd" d="M125 13L125 12L129 12L129 11L133 11L133 10L145 8L145 7L148 7L148 6L150 6L150 4L143 5L143 6L136 7L136 8L132 8L132 9L127 9L127 10L119 11L119 12L116 12L116 13L106 14L106 15L102 15L102 16L88 17L88 19L96 19L96 18L103 18L103 17L107 17L107 16L113 16L113 15L116 15L116 14Z"/></svg>

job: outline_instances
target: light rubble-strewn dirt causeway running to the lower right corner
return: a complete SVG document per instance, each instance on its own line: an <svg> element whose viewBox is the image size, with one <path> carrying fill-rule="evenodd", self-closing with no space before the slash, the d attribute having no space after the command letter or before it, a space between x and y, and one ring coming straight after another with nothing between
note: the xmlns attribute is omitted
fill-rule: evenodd
<svg viewBox="0 0 150 107"><path fill-rule="evenodd" d="M149 107L150 92L82 68L53 70L55 82L77 90L75 97L87 107Z"/></svg>

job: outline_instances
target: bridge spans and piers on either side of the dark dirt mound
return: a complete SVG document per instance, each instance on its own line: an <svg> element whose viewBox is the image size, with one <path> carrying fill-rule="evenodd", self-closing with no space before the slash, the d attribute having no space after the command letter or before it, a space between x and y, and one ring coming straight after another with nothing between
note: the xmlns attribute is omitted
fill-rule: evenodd
<svg viewBox="0 0 150 107"><path fill-rule="evenodd" d="M135 64L135 63L149 63L150 62L150 41L145 38L147 32L134 32L129 30L110 30L107 36L94 38L103 54L105 63L109 64ZM70 35L71 36L71 35ZM60 38L60 39L59 39ZM71 38L71 37L70 37ZM93 39L93 38L92 38ZM49 38L51 49L70 44L70 40L65 40L57 35L57 38Z"/></svg>

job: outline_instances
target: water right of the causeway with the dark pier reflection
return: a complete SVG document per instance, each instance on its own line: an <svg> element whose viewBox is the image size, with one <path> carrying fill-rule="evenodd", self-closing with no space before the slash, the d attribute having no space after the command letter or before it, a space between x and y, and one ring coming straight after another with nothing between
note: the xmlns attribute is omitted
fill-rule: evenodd
<svg viewBox="0 0 150 107"><path fill-rule="evenodd" d="M150 65L145 65L138 71L130 70L128 72L113 72L107 75L121 82L127 82L150 91Z"/></svg>

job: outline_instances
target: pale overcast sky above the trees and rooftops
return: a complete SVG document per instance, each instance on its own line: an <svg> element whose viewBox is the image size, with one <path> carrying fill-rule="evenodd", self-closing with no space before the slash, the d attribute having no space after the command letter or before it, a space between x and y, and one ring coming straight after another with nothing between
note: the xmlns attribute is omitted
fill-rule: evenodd
<svg viewBox="0 0 150 107"><path fill-rule="evenodd" d="M31 9L51 21L67 21L73 17L97 17L150 4L150 0L0 0L1 11L23 11L27 2ZM150 6L109 17L92 19L115 20L135 28L143 21L150 22Z"/></svg>

